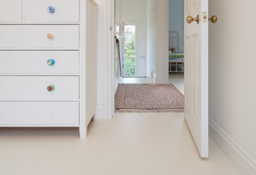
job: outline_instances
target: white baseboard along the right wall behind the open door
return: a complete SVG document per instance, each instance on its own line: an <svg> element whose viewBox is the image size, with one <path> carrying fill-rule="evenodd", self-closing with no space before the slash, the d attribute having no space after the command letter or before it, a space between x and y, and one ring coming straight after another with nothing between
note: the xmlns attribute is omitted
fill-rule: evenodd
<svg viewBox="0 0 256 175"><path fill-rule="evenodd" d="M255 160L241 149L211 118L209 118L209 135L241 174L256 174Z"/></svg>

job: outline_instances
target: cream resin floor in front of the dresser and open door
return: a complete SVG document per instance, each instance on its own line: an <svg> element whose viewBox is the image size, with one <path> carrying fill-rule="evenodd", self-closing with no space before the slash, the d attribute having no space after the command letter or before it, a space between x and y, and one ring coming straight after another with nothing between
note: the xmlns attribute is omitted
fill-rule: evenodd
<svg viewBox="0 0 256 175"><path fill-rule="evenodd" d="M117 113L78 129L0 128L0 174L236 175L210 140L201 159L183 113Z"/></svg>

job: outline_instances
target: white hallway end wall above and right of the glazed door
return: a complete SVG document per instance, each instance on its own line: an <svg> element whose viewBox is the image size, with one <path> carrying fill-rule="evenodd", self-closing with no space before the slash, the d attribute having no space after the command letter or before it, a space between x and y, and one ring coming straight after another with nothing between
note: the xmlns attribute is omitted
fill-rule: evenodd
<svg viewBox="0 0 256 175"><path fill-rule="evenodd" d="M147 76L147 0L121 0L121 17L128 21L139 22L137 34L137 76ZM115 0L115 19L120 17L120 0Z"/></svg>

